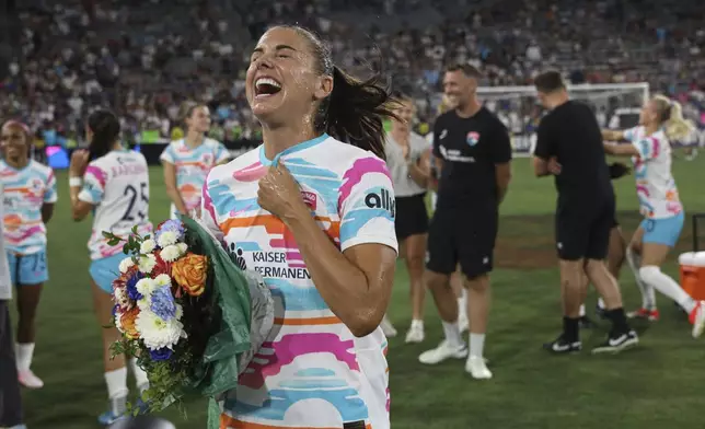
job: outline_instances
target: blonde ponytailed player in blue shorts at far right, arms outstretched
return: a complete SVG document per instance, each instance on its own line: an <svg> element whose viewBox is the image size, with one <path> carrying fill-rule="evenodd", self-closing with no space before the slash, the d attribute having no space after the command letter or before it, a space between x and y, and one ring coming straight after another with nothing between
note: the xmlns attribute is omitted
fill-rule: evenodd
<svg viewBox="0 0 705 429"><path fill-rule="evenodd" d="M693 337L703 334L705 302L695 301L661 271L661 264L678 243L683 229L683 205L671 174L671 140L687 136L693 125L683 119L681 106L664 96L656 96L644 104L639 126L625 131L602 131L611 141L626 140L631 144L605 143L605 152L632 156L636 176L636 194L644 221L634 233L627 248L627 263L642 291L642 308L634 317L657 320L654 290L678 302L690 314Z"/></svg>

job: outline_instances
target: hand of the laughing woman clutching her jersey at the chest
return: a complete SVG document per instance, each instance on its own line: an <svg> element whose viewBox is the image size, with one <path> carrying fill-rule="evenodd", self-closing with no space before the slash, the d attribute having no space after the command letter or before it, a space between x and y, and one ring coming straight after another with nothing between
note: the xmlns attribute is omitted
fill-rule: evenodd
<svg viewBox="0 0 705 429"><path fill-rule="evenodd" d="M281 162L270 166L267 175L259 179L257 204L282 221L298 216L302 210L308 212L299 184Z"/></svg>

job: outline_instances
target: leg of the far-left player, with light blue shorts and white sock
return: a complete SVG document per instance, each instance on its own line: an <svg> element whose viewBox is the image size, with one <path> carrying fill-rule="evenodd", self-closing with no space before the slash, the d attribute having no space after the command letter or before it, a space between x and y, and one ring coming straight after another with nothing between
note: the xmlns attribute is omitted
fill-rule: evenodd
<svg viewBox="0 0 705 429"><path fill-rule="evenodd" d="M20 383L27 389L41 389L44 382L32 372L35 346L35 320L44 282L49 279L46 253L18 256L18 336L15 359Z"/></svg>

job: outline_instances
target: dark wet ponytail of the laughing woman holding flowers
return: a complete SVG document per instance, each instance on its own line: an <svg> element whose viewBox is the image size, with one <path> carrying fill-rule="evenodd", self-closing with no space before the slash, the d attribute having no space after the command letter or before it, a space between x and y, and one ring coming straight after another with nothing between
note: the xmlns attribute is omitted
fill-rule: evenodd
<svg viewBox="0 0 705 429"><path fill-rule="evenodd" d="M327 103L322 103L321 109L325 112L323 123L316 126L323 127L325 132L336 140L369 150L385 159L382 120L398 120L393 113L396 103L388 89L380 84L379 77L360 81L334 67L333 92Z"/></svg>

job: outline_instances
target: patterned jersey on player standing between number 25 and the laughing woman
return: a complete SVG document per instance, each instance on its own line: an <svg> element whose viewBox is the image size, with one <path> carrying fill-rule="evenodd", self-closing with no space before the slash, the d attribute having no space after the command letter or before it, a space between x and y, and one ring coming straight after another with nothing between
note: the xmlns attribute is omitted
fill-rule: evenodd
<svg viewBox="0 0 705 429"><path fill-rule="evenodd" d="M228 160L228 149L209 138L206 138L199 147L190 149L184 139L181 139L172 141L160 159L174 164L178 194L186 210L190 211L200 207L200 189L206 182L206 176L210 169Z"/></svg>

